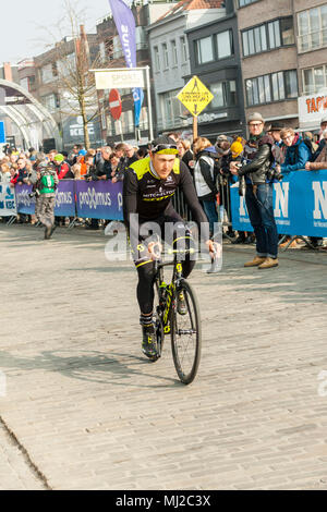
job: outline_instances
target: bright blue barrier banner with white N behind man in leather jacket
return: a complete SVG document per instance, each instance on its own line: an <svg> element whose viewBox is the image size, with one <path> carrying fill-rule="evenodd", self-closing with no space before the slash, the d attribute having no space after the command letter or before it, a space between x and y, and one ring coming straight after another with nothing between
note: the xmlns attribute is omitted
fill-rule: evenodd
<svg viewBox="0 0 327 512"><path fill-rule="evenodd" d="M253 231L245 197L231 186L232 227ZM295 171L274 184L274 216L279 234L327 236L327 170Z"/></svg>

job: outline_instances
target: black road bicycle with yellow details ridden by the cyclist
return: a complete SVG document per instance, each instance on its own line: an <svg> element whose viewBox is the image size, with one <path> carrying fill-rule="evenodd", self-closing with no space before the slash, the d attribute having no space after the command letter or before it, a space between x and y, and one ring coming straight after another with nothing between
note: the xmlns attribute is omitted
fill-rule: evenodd
<svg viewBox="0 0 327 512"><path fill-rule="evenodd" d="M191 383L197 373L201 359L201 316L196 295L189 282L182 277L182 259L194 249L171 249L173 260L162 263L160 256L155 260L155 303L154 321L157 337L157 356L161 357L165 336L170 334L173 363L180 380ZM164 281L165 267L172 266L170 284ZM183 294L185 307L179 313L178 301Z"/></svg>

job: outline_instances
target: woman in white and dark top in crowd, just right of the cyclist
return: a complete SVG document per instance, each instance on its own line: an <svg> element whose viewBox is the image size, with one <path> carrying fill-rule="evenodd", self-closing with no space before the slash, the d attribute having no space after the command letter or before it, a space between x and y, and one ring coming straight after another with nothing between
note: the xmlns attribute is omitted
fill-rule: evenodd
<svg viewBox="0 0 327 512"><path fill-rule="evenodd" d="M193 144L196 159L194 184L198 199L209 221L210 236L214 236L215 222L218 222L216 196L215 159L218 158L215 147L205 137L198 137Z"/></svg>

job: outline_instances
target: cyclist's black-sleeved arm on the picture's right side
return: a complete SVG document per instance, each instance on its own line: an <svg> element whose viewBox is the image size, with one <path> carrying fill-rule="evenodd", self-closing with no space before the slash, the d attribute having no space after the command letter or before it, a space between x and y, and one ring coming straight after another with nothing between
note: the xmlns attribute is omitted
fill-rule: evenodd
<svg viewBox="0 0 327 512"><path fill-rule="evenodd" d="M192 216L195 222L197 223L198 230L201 231L202 240L206 242L210 237L208 219L199 204L191 173L184 162L181 162L180 173L180 185L183 191L185 200L192 211Z"/></svg>

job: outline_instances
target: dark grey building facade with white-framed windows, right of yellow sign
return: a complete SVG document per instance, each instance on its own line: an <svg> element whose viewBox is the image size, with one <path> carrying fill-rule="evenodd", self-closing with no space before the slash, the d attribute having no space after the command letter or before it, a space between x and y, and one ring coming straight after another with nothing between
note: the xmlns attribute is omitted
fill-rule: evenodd
<svg viewBox="0 0 327 512"><path fill-rule="evenodd" d="M220 134L245 134L238 19L233 1L225 3L223 17L186 31L190 76L197 75L214 95L198 117L198 134L213 142Z"/></svg>

